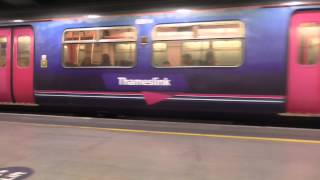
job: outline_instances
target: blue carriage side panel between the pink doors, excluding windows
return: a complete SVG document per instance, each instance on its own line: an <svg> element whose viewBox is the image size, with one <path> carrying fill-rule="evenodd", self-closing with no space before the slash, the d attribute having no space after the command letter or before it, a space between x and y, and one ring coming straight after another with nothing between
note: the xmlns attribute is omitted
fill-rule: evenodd
<svg viewBox="0 0 320 180"><path fill-rule="evenodd" d="M153 20L148 24L135 24L136 19L146 18L144 16L34 23L36 101L43 105L105 108L284 112L291 13L292 9L288 8L266 8L153 15L147 17ZM239 67L152 66L152 30L155 25L231 20L245 24L244 60ZM137 64L134 67L63 67L62 38L66 29L111 26L137 29ZM142 43L142 39L147 39L148 43ZM48 60L47 68L40 67L43 55ZM170 86L124 87L119 83L119 77L168 78Z"/></svg>

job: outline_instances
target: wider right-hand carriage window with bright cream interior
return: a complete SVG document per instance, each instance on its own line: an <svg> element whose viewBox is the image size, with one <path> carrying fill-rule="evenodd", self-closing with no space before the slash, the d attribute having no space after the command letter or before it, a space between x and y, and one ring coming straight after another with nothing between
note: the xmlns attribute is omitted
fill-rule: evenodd
<svg viewBox="0 0 320 180"><path fill-rule="evenodd" d="M240 66L245 27L240 21L158 25L152 32L155 67Z"/></svg>

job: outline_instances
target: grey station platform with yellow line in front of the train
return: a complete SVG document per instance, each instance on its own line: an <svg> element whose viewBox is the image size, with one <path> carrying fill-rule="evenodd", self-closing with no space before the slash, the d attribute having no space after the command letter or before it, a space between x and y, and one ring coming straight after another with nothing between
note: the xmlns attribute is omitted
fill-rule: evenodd
<svg viewBox="0 0 320 180"><path fill-rule="evenodd" d="M319 152L317 129L0 113L0 179L318 180Z"/></svg>

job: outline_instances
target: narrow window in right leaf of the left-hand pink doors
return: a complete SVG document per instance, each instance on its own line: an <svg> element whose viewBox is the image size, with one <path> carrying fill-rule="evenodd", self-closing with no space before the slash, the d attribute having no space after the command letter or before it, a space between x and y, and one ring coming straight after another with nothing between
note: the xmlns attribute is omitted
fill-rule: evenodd
<svg viewBox="0 0 320 180"><path fill-rule="evenodd" d="M18 37L18 65L20 67L29 66L30 48L31 48L31 37L19 36Z"/></svg>

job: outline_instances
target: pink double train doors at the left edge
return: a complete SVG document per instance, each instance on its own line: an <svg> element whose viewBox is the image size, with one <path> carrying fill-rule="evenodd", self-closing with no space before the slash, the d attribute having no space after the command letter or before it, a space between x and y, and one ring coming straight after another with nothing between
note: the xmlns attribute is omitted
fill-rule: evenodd
<svg viewBox="0 0 320 180"><path fill-rule="evenodd" d="M0 102L34 103L33 52L30 27L0 28Z"/></svg>

